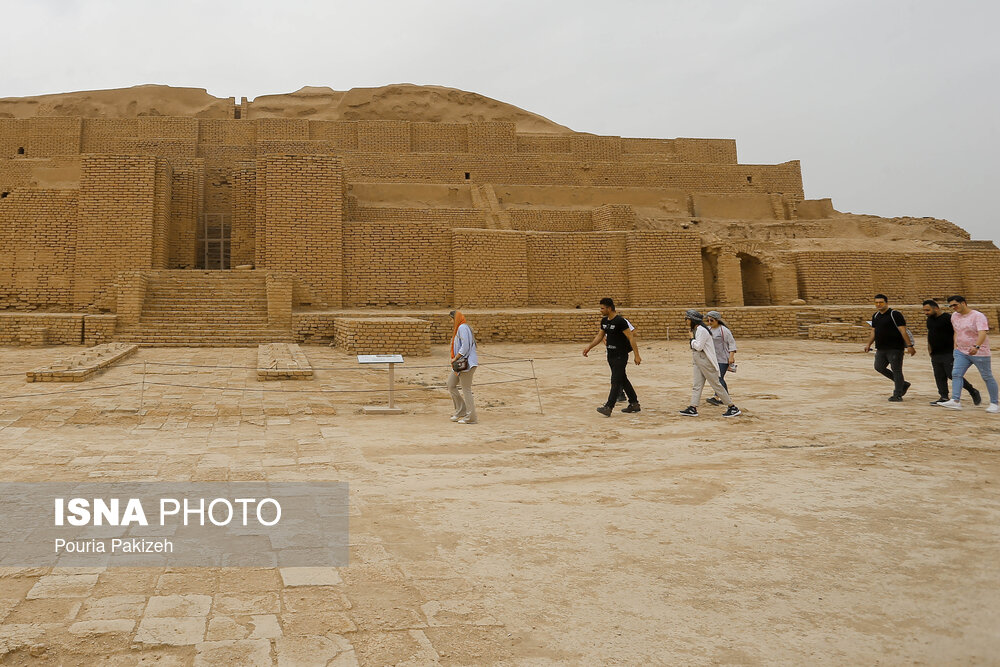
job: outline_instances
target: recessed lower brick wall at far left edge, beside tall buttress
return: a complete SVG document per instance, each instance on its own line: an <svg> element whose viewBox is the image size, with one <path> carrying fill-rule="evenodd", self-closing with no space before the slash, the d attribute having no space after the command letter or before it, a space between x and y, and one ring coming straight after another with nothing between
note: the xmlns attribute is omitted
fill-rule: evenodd
<svg viewBox="0 0 1000 667"><path fill-rule="evenodd" d="M0 199L0 310L73 305L75 190L21 190Z"/></svg>

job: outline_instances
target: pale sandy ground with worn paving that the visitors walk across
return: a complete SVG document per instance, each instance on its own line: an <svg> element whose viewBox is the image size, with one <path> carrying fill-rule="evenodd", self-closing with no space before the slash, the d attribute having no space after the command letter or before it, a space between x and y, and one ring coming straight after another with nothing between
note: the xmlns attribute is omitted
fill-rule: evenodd
<svg viewBox="0 0 1000 667"><path fill-rule="evenodd" d="M395 417L291 393L382 387L326 347L312 381L143 349L83 385L7 375L70 348L0 348L7 481L338 480L352 512L350 565L304 577L0 570L0 663L998 664L1000 416L929 406L926 356L889 403L857 345L742 340L744 416L692 419L684 343L645 343L642 412L604 418L584 343L482 346L468 426L443 347L399 372ZM544 414L530 366L499 363L526 357Z"/></svg>

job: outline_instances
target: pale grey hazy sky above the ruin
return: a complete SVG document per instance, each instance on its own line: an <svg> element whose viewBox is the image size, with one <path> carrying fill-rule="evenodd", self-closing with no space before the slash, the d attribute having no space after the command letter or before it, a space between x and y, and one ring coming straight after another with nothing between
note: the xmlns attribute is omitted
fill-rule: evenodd
<svg viewBox="0 0 1000 667"><path fill-rule="evenodd" d="M581 132L725 137L841 211L1000 240L1000 4L8 0L0 97L140 83L475 91Z"/></svg>

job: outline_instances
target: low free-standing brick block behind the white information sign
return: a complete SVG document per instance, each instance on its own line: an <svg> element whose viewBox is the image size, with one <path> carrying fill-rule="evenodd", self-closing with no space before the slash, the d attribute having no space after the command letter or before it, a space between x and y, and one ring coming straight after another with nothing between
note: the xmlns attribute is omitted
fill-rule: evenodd
<svg viewBox="0 0 1000 667"><path fill-rule="evenodd" d="M428 323L412 317L338 318L333 322L334 344L351 354L431 353Z"/></svg>

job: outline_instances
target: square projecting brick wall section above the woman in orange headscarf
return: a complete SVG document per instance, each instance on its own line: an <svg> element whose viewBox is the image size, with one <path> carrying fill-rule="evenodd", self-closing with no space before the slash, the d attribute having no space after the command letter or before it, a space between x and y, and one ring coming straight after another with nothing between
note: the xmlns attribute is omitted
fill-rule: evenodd
<svg viewBox="0 0 1000 667"><path fill-rule="evenodd" d="M525 234L453 229L451 247L457 308L514 308L528 302Z"/></svg>

